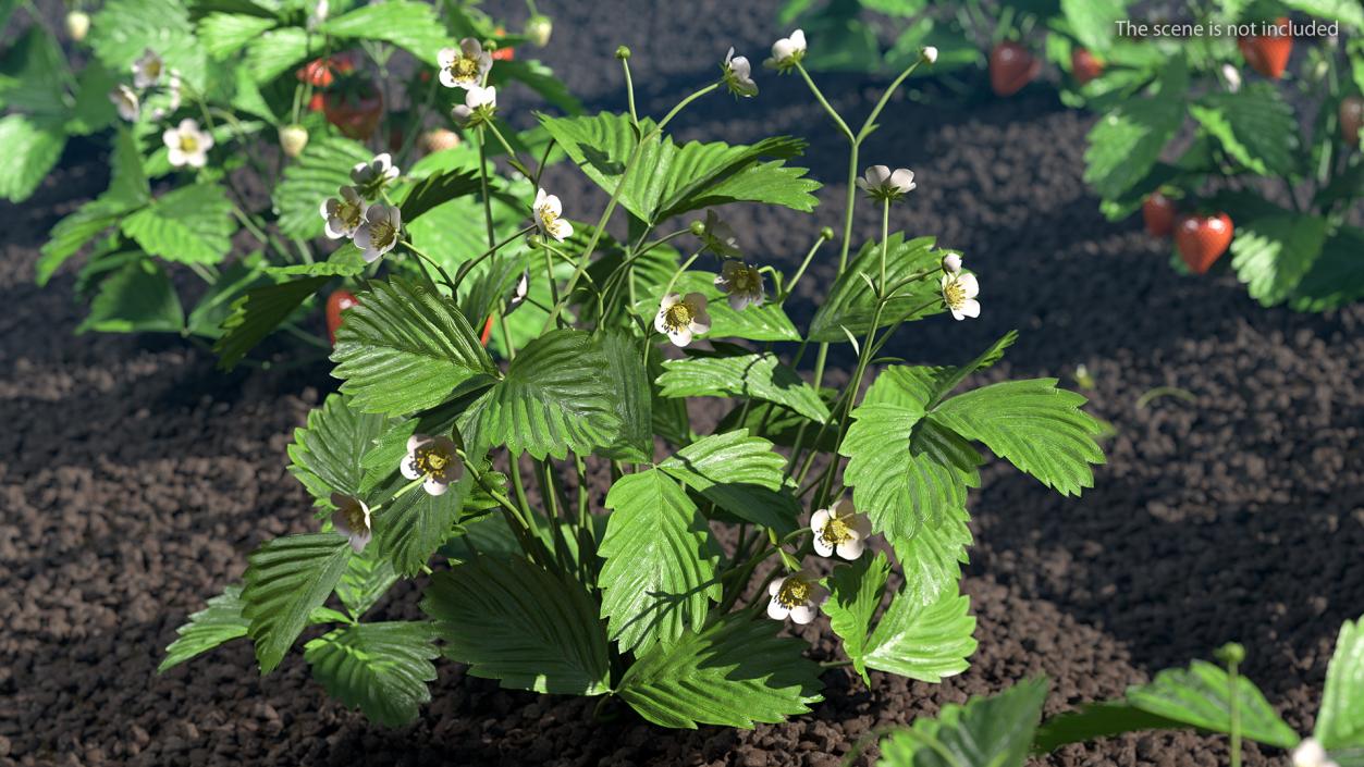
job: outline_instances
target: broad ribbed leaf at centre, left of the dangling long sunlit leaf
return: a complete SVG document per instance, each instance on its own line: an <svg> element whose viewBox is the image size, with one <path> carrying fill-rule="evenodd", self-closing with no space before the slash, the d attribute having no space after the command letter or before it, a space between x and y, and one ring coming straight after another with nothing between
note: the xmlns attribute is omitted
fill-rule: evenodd
<svg viewBox="0 0 1364 767"><path fill-rule="evenodd" d="M513 456L529 452L537 460L610 447L621 421L606 368L591 334L550 331L527 345L506 376L460 417L460 433L479 450L505 444Z"/></svg>

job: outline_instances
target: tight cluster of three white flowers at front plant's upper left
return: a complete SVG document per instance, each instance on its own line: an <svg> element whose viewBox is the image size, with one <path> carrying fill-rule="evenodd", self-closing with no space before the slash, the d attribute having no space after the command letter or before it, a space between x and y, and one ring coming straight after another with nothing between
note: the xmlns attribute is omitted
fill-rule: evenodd
<svg viewBox="0 0 1364 767"><path fill-rule="evenodd" d="M397 206L378 200L383 188L398 177L389 153L375 155L370 162L357 162L351 169L353 187L341 187L337 196L322 200L318 213L326 222L326 234L333 240L349 237L360 248L364 260L374 263L391 251L402 233L402 211ZM376 200L366 206L366 199Z"/></svg>

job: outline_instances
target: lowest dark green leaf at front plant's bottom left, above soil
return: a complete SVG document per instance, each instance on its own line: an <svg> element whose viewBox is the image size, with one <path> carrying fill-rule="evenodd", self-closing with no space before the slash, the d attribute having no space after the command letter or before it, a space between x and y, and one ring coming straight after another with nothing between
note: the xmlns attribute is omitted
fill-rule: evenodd
<svg viewBox="0 0 1364 767"><path fill-rule="evenodd" d="M359 707L386 727L406 725L431 702L435 628L427 623L368 623L308 642L303 657L312 677L346 708Z"/></svg>

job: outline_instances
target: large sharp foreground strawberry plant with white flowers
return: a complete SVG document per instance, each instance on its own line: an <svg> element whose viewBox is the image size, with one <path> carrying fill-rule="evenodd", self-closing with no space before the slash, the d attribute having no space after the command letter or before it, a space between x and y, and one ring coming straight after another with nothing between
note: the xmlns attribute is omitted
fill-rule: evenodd
<svg viewBox="0 0 1364 767"><path fill-rule="evenodd" d="M396 5L408 7L363 12ZM252 552L162 669L244 638L267 674L303 640L316 681L383 725L419 715L443 657L670 727L806 713L829 666L928 683L964 670L975 620L959 580L981 445L1078 495L1103 460L1102 425L1056 379L966 386L1013 332L948 366L885 356L913 323L951 332L985 311L966 256L892 230L914 173L859 158L933 52L854 128L805 68L805 34L772 46L767 67L801 78L848 148L840 230L824 226L783 272L724 215L813 215L820 184L795 165L806 142L668 131L698 99L758 97L746 56L717 49L716 79L647 116L621 48L629 110L537 113L517 131L503 117L528 108L494 83L527 71L521 57L402 19L363 29L430 38L427 87L464 142L402 168L401 153L329 136L285 173L281 225L336 248L270 272L280 281L235 305L220 349L240 357L306 297L353 281L353 296L329 300L340 391L288 450L315 523ZM600 210L544 188L557 157L602 188ZM854 232L862 198L878 232ZM836 277L798 327L787 300L817 257ZM857 358L837 388L825 386L835 345ZM701 402L717 421L692 418ZM402 579L417 582L424 617L375 620ZM783 632L821 613L842 648L822 662Z"/></svg>

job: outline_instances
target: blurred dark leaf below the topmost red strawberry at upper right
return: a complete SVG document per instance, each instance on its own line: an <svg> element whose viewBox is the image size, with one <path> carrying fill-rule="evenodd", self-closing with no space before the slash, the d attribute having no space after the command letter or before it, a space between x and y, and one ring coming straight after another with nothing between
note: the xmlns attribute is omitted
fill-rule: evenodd
<svg viewBox="0 0 1364 767"><path fill-rule="evenodd" d="M1297 119L1270 83L1237 93L1210 93L1189 114L1221 142L1226 154L1260 176L1286 176L1297 166Z"/></svg>

